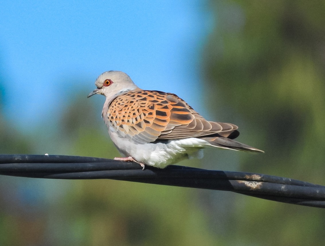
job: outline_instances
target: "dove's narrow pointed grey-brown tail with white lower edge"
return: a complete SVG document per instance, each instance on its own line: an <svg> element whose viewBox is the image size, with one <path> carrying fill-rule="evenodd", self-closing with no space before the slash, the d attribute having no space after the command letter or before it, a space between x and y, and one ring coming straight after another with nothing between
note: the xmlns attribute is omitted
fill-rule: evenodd
<svg viewBox="0 0 325 246"><path fill-rule="evenodd" d="M203 137L201 138L205 141L208 141L212 146L223 148L223 149L231 149L231 150L239 150L239 151L247 151L247 152L262 152L263 150L256 149L249 145L237 142L235 140L225 138L225 137Z"/></svg>

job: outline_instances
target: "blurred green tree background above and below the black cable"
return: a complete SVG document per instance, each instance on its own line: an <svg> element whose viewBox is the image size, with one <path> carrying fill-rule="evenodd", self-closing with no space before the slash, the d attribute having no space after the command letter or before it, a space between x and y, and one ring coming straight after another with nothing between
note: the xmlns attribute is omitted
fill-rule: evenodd
<svg viewBox="0 0 325 246"><path fill-rule="evenodd" d="M208 5L214 26L202 51L200 96L212 119L239 125L239 141L265 154L205 151L202 161L180 165L324 185L325 2ZM118 156L100 119L104 98L87 94L67 96L61 116L35 132L1 116L0 152ZM2 176L0 197L0 245L323 245L324 210L228 192Z"/></svg>

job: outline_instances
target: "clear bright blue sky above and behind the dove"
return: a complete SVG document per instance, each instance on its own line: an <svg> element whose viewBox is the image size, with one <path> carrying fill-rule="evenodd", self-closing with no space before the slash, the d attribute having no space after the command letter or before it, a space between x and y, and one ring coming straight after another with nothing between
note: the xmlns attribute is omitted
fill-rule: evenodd
<svg viewBox="0 0 325 246"><path fill-rule="evenodd" d="M19 127L58 111L79 88L92 91L111 69L201 107L206 1L7 1L0 16L4 113Z"/></svg>

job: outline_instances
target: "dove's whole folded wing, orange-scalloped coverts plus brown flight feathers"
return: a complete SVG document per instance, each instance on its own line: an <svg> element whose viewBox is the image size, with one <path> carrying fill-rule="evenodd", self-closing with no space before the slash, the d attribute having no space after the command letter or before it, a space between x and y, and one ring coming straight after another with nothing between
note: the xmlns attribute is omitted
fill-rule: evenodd
<svg viewBox="0 0 325 246"><path fill-rule="evenodd" d="M120 95L111 102L107 117L122 137L140 144L237 129L232 124L209 122L175 94L159 91Z"/></svg>

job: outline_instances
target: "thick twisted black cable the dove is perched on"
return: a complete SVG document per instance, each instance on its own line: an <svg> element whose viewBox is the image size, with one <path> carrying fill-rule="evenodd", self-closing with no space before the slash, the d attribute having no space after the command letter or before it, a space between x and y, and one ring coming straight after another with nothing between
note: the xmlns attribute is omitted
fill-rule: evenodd
<svg viewBox="0 0 325 246"><path fill-rule="evenodd" d="M165 169L103 158L64 155L0 155L0 174L29 178L109 178L221 191L283 203L325 208L325 186L290 178L171 165Z"/></svg>

